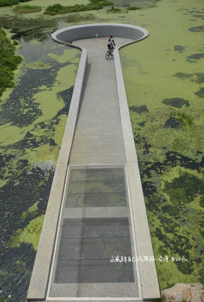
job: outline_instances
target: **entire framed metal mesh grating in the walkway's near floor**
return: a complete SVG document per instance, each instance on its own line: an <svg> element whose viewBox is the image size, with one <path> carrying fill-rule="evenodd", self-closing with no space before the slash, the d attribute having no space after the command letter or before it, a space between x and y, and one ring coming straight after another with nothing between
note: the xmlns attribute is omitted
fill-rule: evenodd
<svg viewBox="0 0 204 302"><path fill-rule="evenodd" d="M69 167L49 297L139 297L125 167Z"/></svg>

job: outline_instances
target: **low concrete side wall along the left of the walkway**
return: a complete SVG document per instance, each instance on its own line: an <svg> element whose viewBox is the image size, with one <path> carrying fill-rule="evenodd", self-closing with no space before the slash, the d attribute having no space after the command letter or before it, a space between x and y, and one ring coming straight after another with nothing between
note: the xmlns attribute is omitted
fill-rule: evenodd
<svg viewBox="0 0 204 302"><path fill-rule="evenodd" d="M62 43L59 40L55 41ZM62 44L73 47L70 43ZM65 131L63 134L61 148L53 177L52 187L49 194L49 200L46 208L45 219L40 235L35 263L30 278L30 285L27 293L28 300L46 299L49 272L52 264L53 250L55 245L59 212L62 203L69 155L72 147L72 140L74 137L77 122L77 116L84 86L84 79L88 66L87 50L81 47L75 48L82 50L82 53L69 108L69 114L65 125ZM49 217L52 217L52 221L49 220ZM44 250L45 246L48 247L46 251Z"/></svg>

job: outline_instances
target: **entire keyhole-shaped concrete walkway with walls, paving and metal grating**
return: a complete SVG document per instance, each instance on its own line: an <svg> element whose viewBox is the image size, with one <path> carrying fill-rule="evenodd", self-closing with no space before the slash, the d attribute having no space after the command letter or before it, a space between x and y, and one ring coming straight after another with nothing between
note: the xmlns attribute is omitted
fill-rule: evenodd
<svg viewBox="0 0 204 302"><path fill-rule="evenodd" d="M53 35L68 45L73 41L82 55L28 290L30 301L160 297L155 263L137 261L153 258L153 250L118 48L114 58L105 59L106 27L76 26ZM108 31L117 47L146 34L123 24ZM80 35L88 38L74 38Z"/></svg>

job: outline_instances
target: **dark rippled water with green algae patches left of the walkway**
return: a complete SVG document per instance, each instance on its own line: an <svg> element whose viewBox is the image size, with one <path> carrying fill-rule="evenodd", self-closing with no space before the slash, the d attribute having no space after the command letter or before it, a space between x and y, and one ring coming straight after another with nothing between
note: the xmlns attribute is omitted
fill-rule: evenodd
<svg viewBox="0 0 204 302"><path fill-rule="evenodd" d="M23 63L0 103L0 298L26 301L81 52L20 39Z"/></svg>

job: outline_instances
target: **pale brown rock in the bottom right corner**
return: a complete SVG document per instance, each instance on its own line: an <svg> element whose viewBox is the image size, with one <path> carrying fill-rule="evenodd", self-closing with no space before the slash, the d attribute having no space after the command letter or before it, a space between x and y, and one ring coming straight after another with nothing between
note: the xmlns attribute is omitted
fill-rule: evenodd
<svg viewBox="0 0 204 302"><path fill-rule="evenodd" d="M204 302L204 290L201 283L177 283L161 291L162 302Z"/></svg>

